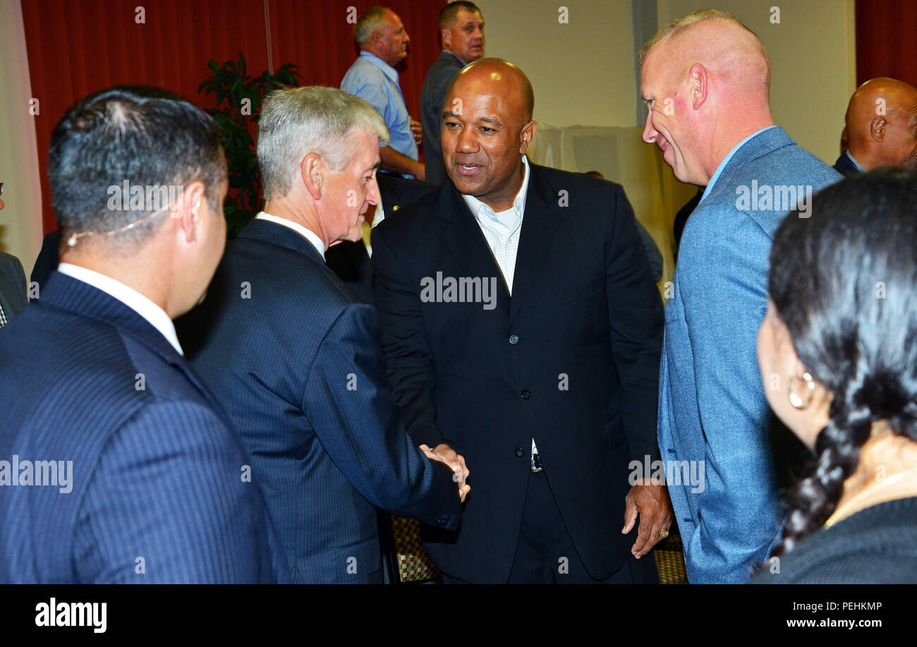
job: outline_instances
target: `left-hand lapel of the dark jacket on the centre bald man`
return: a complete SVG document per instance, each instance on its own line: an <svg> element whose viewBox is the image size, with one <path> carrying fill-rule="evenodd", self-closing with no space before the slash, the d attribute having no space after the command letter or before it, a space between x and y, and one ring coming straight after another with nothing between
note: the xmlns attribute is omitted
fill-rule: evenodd
<svg viewBox="0 0 917 647"><path fill-rule="evenodd" d="M436 213L446 220L441 239L443 245L468 272L467 275L480 276L481 279L497 277L497 304L506 314L509 311L510 295L503 281L503 273L493 258L491 247L478 221L471 215L468 204L451 182L444 185L440 193Z"/></svg>

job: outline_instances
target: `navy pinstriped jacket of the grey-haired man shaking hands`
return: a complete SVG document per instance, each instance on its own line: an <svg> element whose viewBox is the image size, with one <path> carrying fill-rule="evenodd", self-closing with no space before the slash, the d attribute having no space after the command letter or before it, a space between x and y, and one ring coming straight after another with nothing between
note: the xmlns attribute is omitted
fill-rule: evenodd
<svg viewBox="0 0 917 647"><path fill-rule="evenodd" d="M451 473L385 387L375 309L293 229L252 220L180 334L252 455L295 582L381 575L373 506L458 525Z"/></svg>

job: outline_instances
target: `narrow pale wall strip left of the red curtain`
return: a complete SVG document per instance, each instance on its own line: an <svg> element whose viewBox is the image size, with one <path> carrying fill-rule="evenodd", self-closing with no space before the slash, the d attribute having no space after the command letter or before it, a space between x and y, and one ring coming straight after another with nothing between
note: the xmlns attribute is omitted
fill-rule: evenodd
<svg viewBox="0 0 917 647"><path fill-rule="evenodd" d="M19 0L0 0L0 43L0 250L18 256L28 277L41 249L41 186Z"/></svg>

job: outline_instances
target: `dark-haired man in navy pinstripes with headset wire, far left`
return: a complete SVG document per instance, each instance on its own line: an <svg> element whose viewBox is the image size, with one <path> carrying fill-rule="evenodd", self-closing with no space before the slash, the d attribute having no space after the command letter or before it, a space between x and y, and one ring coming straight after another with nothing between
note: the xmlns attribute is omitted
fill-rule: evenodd
<svg viewBox="0 0 917 647"><path fill-rule="evenodd" d="M0 334L0 582L287 581L171 322L225 246L213 119L155 88L101 91L54 129L49 175L69 246Z"/></svg>

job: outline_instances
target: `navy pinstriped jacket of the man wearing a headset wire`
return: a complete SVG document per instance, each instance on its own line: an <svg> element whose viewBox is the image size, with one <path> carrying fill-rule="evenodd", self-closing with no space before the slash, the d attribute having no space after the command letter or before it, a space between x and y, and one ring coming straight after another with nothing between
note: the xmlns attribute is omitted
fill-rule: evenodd
<svg viewBox="0 0 917 647"><path fill-rule="evenodd" d="M0 334L0 393L0 582L288 579L226 418L116 298L52 273Z"/></svg>

